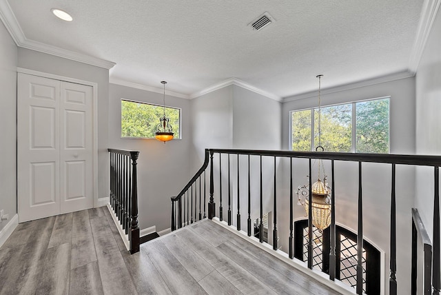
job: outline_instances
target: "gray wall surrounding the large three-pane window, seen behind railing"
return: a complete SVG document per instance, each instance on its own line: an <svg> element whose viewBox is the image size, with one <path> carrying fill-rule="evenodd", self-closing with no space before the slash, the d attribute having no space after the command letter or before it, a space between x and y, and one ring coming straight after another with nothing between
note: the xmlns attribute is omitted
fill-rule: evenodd
<svg viewBox="0 0 441 295"><path fill-rule="evenodd" d="M323 85L323 84L322 84ZM348 87L350 88L350 87ZM415 153L415 79L413 77L333 92L324 90L322 105L332 105L351 101L373 99L391 96L390 100L390 152L391 154ZM316 107L317 96L309 99L289 101L283 104L283 148L289 148L289 111ZM294 187L307 182L306 161L297 160L300 171L294 173ZM289 163L284 165L287 171ZM325 162L325 170L330 175L330 164ZM398 293L406 294L410 288L411 267L411 207L413 207L415 169L413 167L397 167L397 278ZM302 172L301 172L302 171ZM315 170L316 171L316 170ZM315 173L313 175L316 175ZM363 234L368 241L385 253L384 284L389 281L389 231L390 231L390 196L391 196L391 167L384 164L363 164ZM285 179L285 181L288 181ZM314 179L315 181L315 179ZM313 182L314 182L313 181ZM331 181L329 177L329 181ZM288 187L285 183L284 187ZM358 164L336 162L336 222L357 232L357 196L358 196ZM283 189L281 194L289 194ZM287 201L285 200L285 204ZM295 218L305 216L302 207L297 206ZM281 232L286 233L289 226L288 216L283 218ZM381 230L379 230L381 229ZM287 238L284 237L285 241ZM286 242L285 242L286 243ZM287 247L285 245L285 247ZM286 249L286 248L285 248ZM388 289L388 288L386 288Z"/></svg>

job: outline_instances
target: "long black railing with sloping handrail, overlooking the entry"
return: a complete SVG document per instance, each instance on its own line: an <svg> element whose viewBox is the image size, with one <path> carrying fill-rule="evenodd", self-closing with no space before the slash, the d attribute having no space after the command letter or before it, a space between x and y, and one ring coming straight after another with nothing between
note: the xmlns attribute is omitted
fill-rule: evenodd
<svg viewBox="0 0 441 295"><path fill-rule="evenodd" d="M214 155L218 155L218 159L214 160ZM201 208L201 204L204 206L204 217L205 217L205 171L209 165L209 201L207 203L208 208L208 218L212 219L215 216L218 216L220 221L223 220L223 205L227 203L227 223L232 225L232 205L236 205L237 208L237 218L236 218L236 229L240 230L240 200L239 197L240 187L248 187L247 190L247 235L252 236L252 230L254 229L254 225L252 224L252 212L251 212L251 192L250 192L250 157L254 160L258 160L260 162L260 170L259 173L260 183L260 192L258 194L258 201L253 199L254 202L259 203L260 207L260 224L259 227L259 241L263 242L263 165L262 159L269 158L274 159L274 192L273 192L273 204L272 204L272 236L273 236L273 249L277 250L277 237L278 237L278 227L277 227L277 214L278 214L278 205L277 201L279 201L280 196L277 196L278 190L276 187L277 181L277 169L276 169L276 159L278 158L287 158L289 159L289 249L288 256L289 258L294 258L293 245L294 245L294 235L293 235L293 204L294 204L294 187L293 187L293 159L307 159L309 161L309 175L311 174L311 163L314 159L322 159L328 160L331 163L331 235L330 235L330 254L329 254L329 279L331 281L335 281L336 279L336 212L335 212L335 171L334 171L334 162L335 161L351 161L358 163L358 235L357 235L357 265L356 265L356 293L362 294L363 292L363 270L362 270L362 252L363 252L363 181L362 181L362 172L364 163L385 163L389 164L391 167L391 210L390 210L390 245L389 245L389 263L390 263L390 276L389 276L389 294L394 295L397 294L397 280L396 280L396 249L397 249L397 232L396 232L396 165L414 165L414 166L427 166L433 167L434 173L434 198L433 198L433 257L431 261L425 261L427 267L431 265L432 269L432 280L431 280L431 288L433 288L433 294L439 294L440 290L440 205L439 205L439 167L441 165L441 156L420 156L420 155L398 155L398 154L351 154L351 153L335 153L335 152L289 152L289 151L270 151L270 150L220 150L220 149L210 149L205 150L205 161L203 166L198 172L193 176L192 180L185 185L184 189L178 194L178 196L172 198L172 230L176 230L182 226L188 225L189 223L196 221L196 203L199 204ZM217 157L216 157L217 158ZM223 162L222 159L228 161L227 164L227 172L224 172L224 178L227 178L227 198L223 196L222 187L223 185L223 176L222 176L222 168ZM232 160L233 159L233 160ZM241 159L242 163L245 161L244 165L239 165L239 159ZM236 200L234 200L234 193L231 194L232 189L230 187L230 163L237 161L237 172L235 176L237 176L237 193ZM218 170L216 173L216 179L218 177L218 196L216 199L219 201L219 214L216 215L216 203L214 202L214 163L218 163ZM225 165L225 163L224 163ZM272 164L271 164L272 165ZM247 166L247 168L246 168ZM254 166L255 167L255 166ZM240 171L241 170L241 171ZM244 171L245 170L245 171ZM242 177L243 181L240 181L240 173L247 173L247 181L245 177ZM227 174L227 176L225 176ZM204 176L202 176L204 175ZM201 176L204 183L204 190L201 192L199 189L199 194L197 193L197 184L199 183L199 187L201 187ZM254 174L254 176L256 176ZM198 182L197 182L198 180ZM256 186L256 183L254 183ZM193 190L195 189L195 190ZM201 201L201 196L203 194L203 200ZM197 196L199 196L199 201L197 202ZM309 196L311 196L311 177L309 177ZM194 197L194 199L193 199ZM224 198L224 199L223 199ZM227 200L225 200L227 199ZM243 199L243 198L242 198ZM187 204L185 204L187 201ZM224 203L223 203L224 202ZM237 202L237 203L235 203ZM195 205L195 209L191 207ZM309 202L309 212L312 211L312 202ZM243 206L242 204L242 207ZM177 209L176 209L177 208ZM187 221L185 221L185 213L187 213ZM201 219L201 210L199 210L199 219ZM271 223L271 221L269 221ZM313 225L312 225L312 214L308 214L308 232L309 236L313 236ZM268 233L269 234L269 233ZM313 266L313 239L309 238L307 243L307 267L312 269ZM433 265L433 266L432 266Z"/></svg>

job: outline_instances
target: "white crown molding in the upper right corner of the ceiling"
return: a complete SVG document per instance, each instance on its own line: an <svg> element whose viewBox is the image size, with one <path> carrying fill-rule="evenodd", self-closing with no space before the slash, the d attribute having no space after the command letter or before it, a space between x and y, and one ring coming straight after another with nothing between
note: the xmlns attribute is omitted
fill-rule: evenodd
<svg viewBox="0 0 441 295"><path fill-rule="evenodd" d="M415 41L413 42L411 57L409 59L409 71L413 74L418 70L422 52L426 46L440 4L441 0L424 0L424 3L422 4L418 30Z"/></svg>

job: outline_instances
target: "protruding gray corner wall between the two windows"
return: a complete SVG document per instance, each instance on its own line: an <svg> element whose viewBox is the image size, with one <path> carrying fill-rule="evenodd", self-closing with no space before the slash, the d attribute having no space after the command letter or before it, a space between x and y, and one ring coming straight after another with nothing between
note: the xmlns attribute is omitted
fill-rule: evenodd
<svg viewBox="0 0 441 295"><path fill-rule="evenodd" d="M269 99L237 85L210 92L192 100L192 173L196 172L203 163L205 148L220 149L254 149L280 150L281 103ZM222 156L222 190L223 218L227 219L228 196L228 160ZM273 166L272 161L265 159L263 172L263 190L265 196L272 196ZM231 204L233 224L236 224L237 214L237 156L230 156L231 187L230 192L234 203ZM240 158L240 182L247 183L247 158ZM252 195L257 198L260 192L260 176L258 161L254 159L252 170ZM209 175L207 174L207 180ZM219 160L214 156L214 201L216 215L219 214ZM208 188L207 188L208 189ZM246 230L247 220L247 187L240 187L241 224ZM265 210L269 210L271 199L265 198ZM252 218L257 218L258 202L252 202Z"/></svg>

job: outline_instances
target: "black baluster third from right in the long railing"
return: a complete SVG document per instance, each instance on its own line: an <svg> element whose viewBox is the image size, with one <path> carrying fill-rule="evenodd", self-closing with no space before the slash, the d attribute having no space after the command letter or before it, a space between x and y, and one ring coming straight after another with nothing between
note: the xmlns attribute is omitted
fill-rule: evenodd
<svg viewBox="0 0 441 295"><path fill-rule="evenodd" d="M357 294L363 293L363 202L361 162L358 162Z"/></svg>

